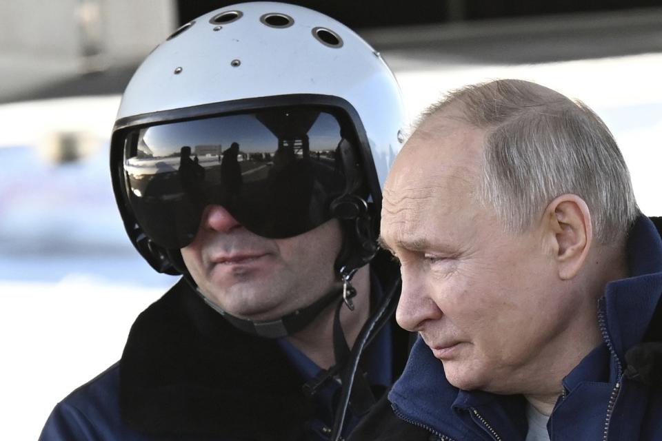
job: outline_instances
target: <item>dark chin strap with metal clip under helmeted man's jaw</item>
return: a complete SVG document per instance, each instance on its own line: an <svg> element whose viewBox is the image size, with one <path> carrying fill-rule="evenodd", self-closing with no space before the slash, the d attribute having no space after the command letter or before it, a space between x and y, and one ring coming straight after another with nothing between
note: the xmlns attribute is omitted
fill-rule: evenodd
<svg viewBox="0 0 662 441"><path fill-rule="evenodd" d="M263 338L282 338L301 331L301 329L309 325L312 320L317 318L323 309L328 307L334 300L341 296L345 305L347 305L350 310L353 310L354 304L352 298L357 295L357 290L352 286L350 280L355 272L356 269L354 269L354 271L341 272L340 276L343 280L342 287L335 285L330 291L318 300L315 300L311 305L292 311L290 314L286 314L285 316L274 320L250 320L233 316L228 311L225 311L225 309L212 302L212 300L209 300L209 298L200 291L197 283L194 282L190 274L185 274L184 277L205 303L214 309L214 311L221 314L225 320L228 320L230 325L254 336Z"/></svg>

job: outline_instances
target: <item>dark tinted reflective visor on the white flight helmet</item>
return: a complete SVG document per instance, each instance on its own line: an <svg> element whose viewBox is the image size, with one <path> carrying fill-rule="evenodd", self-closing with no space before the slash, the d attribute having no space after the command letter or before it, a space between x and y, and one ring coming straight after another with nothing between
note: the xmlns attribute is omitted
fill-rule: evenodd
<svg viewBox="0 0 662 441"><path fill-rule="evenodd" d="M298 106L132 130L128 204L143 232L168 249L192 242L212 204L260 236L297 236L332 218L333 199L356 187L348 121Z"/></svg>

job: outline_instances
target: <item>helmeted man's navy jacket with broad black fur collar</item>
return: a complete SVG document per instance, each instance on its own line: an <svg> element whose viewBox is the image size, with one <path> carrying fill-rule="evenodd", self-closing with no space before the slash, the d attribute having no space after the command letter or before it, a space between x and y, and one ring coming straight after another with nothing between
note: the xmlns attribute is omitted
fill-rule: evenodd
<svg viewBox="0 0 662 441"><path fill-rule="evenodd" d="M383 258L372 268L384 289L399 276ZM409 336L390 329L394 380ZM180 280L134 322L121 360L55 407L40 440L319 440L302 386L277 342L235 329Z"/></svg>

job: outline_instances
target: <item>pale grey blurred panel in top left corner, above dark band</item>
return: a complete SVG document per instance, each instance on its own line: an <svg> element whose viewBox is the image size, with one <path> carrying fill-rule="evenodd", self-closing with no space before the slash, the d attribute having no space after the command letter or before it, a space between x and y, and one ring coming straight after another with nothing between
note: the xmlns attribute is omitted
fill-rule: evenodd
<svg viewBox="0 0 662 441"><path fill-rule="evenodd" d="M2 1L0 56L79 58L86 12L92 16L88 35L101 42L111 61L143 58L177 23L174 0Z"/></svg>

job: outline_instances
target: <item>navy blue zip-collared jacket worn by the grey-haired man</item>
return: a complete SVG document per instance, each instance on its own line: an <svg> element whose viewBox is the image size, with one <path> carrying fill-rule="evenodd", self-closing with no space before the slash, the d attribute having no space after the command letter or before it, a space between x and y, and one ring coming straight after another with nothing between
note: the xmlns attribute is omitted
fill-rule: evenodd
<svg viewBox="0 0 662 441"><path fill-rule="evenodd" d="M662 440L662 384L624 375L626 352L659 327L659 313L652 320L662 293L662 240L648 218L641 216L630 232L628 254L630 276L609 283L599 303L603 343L563 380L564 394L548 422L552 441ZM378 403L350 441L523 441L525 405L521 396L453 387L419 338L388 400Z"/></svg>

